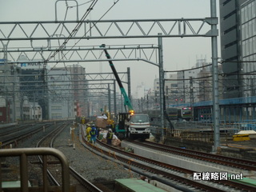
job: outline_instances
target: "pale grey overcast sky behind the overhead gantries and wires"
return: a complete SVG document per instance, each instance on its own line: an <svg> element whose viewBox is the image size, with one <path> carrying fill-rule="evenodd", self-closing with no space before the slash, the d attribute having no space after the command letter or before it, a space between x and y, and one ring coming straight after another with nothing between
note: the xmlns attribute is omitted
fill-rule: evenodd
<svg viewBox="0 0 256 192"><path fill-rule="evenodd" d="M49 21L55 18L54 0L0 0L0 22L10 21ZM78 4L89 2L77 0ZM102 17L117 0L98 0L88 19L97 20ZM218 10L218 0L217 10ZM67 1L69 6L74 2ZM79 17L85 13L88 5L79 6ZM58 2L58 19L64 20L66 2ZM75 9L69 9L68 19L75 19ZM150 19L150 18L206 18L210 17L210 0L119 0L105 19ZM102 42L90 40L90 45L97 46L99 43L125 44L152 43L157 45L158 39L125 39L125 40L102 40ZM164 38L163 59L164 70L184 70L195 66L197 58L206 58L211 62L211 39L210 38ZM218 44L219 47L219 44ZM0 45L2 48L2 45ZM2 56L0 54L0 56ZM158 78L158 68L145 62L122 62L114 63L118 71L126 71L130 66L132 77L132 91L140 83L147 88L153 89L154 78ZM99 71L110 72L110 67L102 62L82 64L87 73Z"/></svg>

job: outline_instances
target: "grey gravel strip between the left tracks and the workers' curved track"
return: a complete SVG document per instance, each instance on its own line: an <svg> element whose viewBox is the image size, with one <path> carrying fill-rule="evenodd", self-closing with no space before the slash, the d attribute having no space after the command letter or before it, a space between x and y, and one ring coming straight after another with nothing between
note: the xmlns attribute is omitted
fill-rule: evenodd
<svg viewBox="0 0 256 192"><path fill-rule="evenodd" d="M116 178L139 177L138 174L131 174L129 170L125 170L123 166L87 150L79 141L78 128L75 128L74 133L75 149L69 145L70 128L59 135L54 142L54 148L61 150L69 159L70 166L78 170L84 178L90 182L106 182Z"/></svg>

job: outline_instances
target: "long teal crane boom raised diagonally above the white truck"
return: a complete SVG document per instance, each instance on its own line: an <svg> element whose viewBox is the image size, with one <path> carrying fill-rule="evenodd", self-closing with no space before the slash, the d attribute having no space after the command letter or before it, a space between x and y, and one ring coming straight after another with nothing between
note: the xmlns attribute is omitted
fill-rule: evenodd
<svg viewBox="0 0 256 192"><path fill-rule="evenodd" d="M113 62L110 60L111 57L110 57L110 54L108 53L108 51L106 50L106 45L105 44L102 44L100 47L104 48L104 52L106 54L106 58L109 59L109 63L110 63L110 67L111 67L111 70L113 71L113 74L114 74L114 77L115 79L117 80L118 82L118 86L121 90L121 94L124 98L124 106L126 108L126 106L128 107L128 110L129 110L129 113L130 114L134 114L134 108L133 106L131 105L131 102L130 102L130 98L128 97L128 95L126 94L126 90L124 89L124 87L122 86L122 82L121 82L121 79L119 78L118 76L118 72L117 70L115 69L114 67L114 64Z"/></svg>

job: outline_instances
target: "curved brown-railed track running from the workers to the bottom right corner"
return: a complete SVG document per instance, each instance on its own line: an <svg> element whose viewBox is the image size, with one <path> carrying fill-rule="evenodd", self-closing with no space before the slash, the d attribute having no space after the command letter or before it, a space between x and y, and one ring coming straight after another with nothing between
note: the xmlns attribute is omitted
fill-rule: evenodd
<svg viewBox="0 0 256 192"><path fill-rule="evenodd" d="M150 158L144 158L142 156L128 153L124 150L120 150L117 147L112 147L98 141L96 146L86 142L85 135L82 131L82 142L86 143L86 146L90 146L92 150L98 151L99 154L118 160L126 166L127 169L140 171L147 177L158 179L169 183L170 186L177 186L186 190L198 190L198 191L254 191L253 186L246 186L241 183L233 181L194 181L192 174L194 170L187 170L178 166L171 166L170 164L154 161ZM112 151L112 152L110 152ZM152 176L154 175L154 176ZM155 175L158 175L155 177ZM160 176L161 175L161 176ZM190 176L189 176L190 175ZM176 183L176 184L174 184ZM178 183L178 184L177 184ZM185 187L185 188L184 188Z"/></svg>

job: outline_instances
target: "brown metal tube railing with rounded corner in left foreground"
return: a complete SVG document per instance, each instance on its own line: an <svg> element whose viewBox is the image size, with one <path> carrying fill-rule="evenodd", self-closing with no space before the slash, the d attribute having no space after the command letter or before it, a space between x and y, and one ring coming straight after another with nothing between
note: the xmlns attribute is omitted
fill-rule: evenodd
<svg viewBox="0 0 256 192"><path fill-rule="evenodd" d="M68 192L70 190L70 170L66 156L60 150L54 148L19 148L0 150L0 160L6 157L19 157L20 162L20 191L29 191L29 174L28 174L28 156L42 155L42 174L43 174L43 191L47 191L47 155L58 158L62 165L62 191ZM0 191L2 191L2 167L0 164Z"/></svg>

